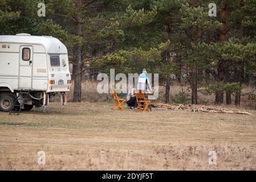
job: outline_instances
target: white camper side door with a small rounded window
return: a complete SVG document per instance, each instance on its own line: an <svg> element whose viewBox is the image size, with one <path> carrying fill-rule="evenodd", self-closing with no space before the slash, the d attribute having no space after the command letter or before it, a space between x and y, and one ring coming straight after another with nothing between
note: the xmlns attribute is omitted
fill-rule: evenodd
<svg viewBox="0 0 256 182"><path fill-rule="evenodd" d="M19 88L31 89L32 84L33 47L21 46L19 48Z"/></svg>

